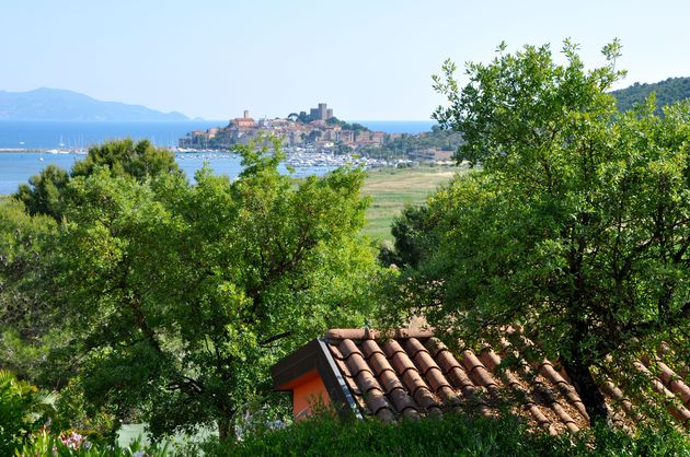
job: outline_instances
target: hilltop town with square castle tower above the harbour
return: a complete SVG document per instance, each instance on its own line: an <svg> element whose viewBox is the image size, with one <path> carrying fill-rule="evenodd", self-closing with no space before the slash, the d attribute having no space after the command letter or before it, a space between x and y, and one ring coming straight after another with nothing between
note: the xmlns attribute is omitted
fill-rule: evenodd
<svg viewBox="0 0 690 457"><path fill-rule="evenodd" d="M347 124L333 116L325 103L311 108L309 114L291 113L286 118L254 120L249 110L242 117L231 119L226 127L206 131L195 130L180 140L180 149L221 150L234 144L246 144L260 133L273 134L286 147L311 147L317 150L337 149L349 152L364 147L380 147L387 133L371 131L358 124ZM400 137L393 133L389 139Z"/></svg>

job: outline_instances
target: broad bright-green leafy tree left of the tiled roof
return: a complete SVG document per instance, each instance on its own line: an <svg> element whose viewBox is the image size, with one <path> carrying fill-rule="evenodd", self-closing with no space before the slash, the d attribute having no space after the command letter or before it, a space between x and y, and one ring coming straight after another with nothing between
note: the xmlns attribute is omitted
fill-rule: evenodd
<svg viewBox="0 0 690 457"><path fill-rule="evenodd" d="M377 267L358 239L364 172L295 183L275 151L239 147L232 183L145 181L96 166L68 185L53 255L64 354L85 398L139 413L156 435L215 423L221 437L271 392L271 363L360 325Z"/></svg>

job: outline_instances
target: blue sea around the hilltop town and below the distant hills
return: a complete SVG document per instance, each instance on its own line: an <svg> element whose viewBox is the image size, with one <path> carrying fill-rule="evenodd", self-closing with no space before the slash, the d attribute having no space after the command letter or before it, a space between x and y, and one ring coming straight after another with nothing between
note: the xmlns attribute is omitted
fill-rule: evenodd
<svg viewBox="0 0 690 457"><path fill-rule="evenodd" d="M388 133L418 133L428 131L435 124L430 120L357 121L372 130ZM117 138L149 140L159 147L175 147L177 140L192 130L206 130L210 127L226 126L223 120L193 120L166 122L77 122L77 121L0 121L0 150L27 149L71 149L84 150L94 143ZM26 183L48 164L70 169L74 161L83 159L78 154L53 154L38 152L0 153L0 195L16 191L16 187ZM208 163L215 173L235 177L242 167L240 159L230 153L185 153L177 154L177 163L189 179L204 163ZM299 168L297 175L323 174L327 167ZM287 173L286 168L283 168Z"/></svg>

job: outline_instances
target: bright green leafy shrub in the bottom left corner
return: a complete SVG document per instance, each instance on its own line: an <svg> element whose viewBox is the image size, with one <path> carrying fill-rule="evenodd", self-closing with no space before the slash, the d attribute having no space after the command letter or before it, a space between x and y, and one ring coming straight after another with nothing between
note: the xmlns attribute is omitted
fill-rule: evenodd
<svg viewBox="0 0 690 457"><path fill-rule="evenodd" d="M54 396L0 371L0 455L14 449L50 419Z"/></svg>

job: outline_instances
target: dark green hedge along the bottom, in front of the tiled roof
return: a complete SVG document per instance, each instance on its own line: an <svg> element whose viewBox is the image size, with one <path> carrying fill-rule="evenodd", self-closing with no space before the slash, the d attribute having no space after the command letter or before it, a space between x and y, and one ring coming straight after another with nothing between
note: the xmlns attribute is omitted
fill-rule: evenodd
<svg viewBox="0 0 690 457"><path fill-rule="evenodd" d="M447 414L440 419L383 424L367 419L342 423L330 417L265 430L238 443L208 442L207 456L688 456L687 438L672 429L631 436L596 429L571 436L529 431L515 417Z"/></svg>

